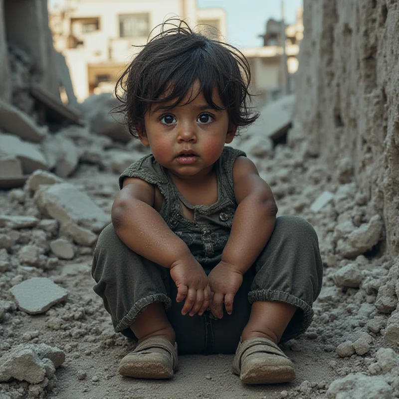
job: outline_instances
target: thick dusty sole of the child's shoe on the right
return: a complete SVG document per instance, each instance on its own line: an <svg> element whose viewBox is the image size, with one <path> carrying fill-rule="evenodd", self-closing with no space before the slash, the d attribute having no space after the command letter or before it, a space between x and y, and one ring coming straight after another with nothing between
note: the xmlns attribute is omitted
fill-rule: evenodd
<svg viewBox="0 0 399 399"><path fill-rule="evenodd" d="M289 366L263 366L241 373L244 384L281 384L295 379L295 371Z"/></svg>

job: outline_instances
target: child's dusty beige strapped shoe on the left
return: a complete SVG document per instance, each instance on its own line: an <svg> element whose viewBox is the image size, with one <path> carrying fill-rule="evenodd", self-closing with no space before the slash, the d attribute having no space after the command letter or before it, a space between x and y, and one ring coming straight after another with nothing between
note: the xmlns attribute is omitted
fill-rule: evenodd
<svg viewBox="0 0 399 399"><path fill-rule="evenodd" d="M148 338L121 360L118 371L133 378L172 378L179 367L177 349L166 338Z"/></svg>

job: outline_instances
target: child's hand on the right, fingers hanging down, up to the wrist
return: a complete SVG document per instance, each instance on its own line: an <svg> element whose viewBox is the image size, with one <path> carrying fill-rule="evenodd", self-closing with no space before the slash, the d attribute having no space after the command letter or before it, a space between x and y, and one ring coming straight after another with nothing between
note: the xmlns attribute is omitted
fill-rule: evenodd
<svg viewBox="0 0 399 399"><path fill-rule="evenodd" d="M213 293L209 306L214 317L223 317L223 302L226 312L233 311L234 295L242 284L242 273L230 263L221 261L208 274L210 291Z"/></svg>

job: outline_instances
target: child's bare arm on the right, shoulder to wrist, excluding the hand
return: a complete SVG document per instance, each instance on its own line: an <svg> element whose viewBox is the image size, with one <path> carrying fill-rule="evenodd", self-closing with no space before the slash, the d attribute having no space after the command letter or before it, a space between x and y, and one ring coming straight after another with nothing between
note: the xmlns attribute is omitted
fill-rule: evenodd
<svg viewBox="0 0 399 399"><path fill-rule="evenodd" d="M245 273L269 240L276 223L277 205L267 183L248 158L233 166L234 194L238 203L222 261Z"/></svg>

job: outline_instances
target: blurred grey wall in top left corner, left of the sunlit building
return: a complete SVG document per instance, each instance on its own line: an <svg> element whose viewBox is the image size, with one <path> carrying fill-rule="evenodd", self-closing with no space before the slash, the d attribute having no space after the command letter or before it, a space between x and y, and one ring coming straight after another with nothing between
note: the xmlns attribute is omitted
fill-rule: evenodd
<svg viewBox="0 0 399 399"><path fill-rule="evenodd" d="M38 83L59 97L47 0L4 0L3 11L7 41L26 51L36 61L40 75Z"/></svg>

